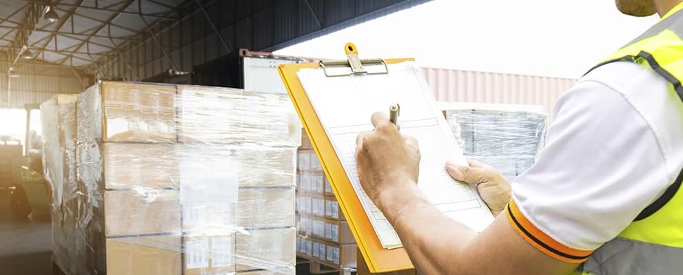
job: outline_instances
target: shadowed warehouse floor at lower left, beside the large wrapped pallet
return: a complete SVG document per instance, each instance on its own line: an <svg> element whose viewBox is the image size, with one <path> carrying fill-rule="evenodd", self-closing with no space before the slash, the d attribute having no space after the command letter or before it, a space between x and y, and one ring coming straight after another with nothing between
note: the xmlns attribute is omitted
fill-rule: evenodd
<svg viewBox="0 0 683 275"><path fill-rule="evenodd" d="M50 275L50 218L17 220L0 192L0 270L3 275Z"/></svg>

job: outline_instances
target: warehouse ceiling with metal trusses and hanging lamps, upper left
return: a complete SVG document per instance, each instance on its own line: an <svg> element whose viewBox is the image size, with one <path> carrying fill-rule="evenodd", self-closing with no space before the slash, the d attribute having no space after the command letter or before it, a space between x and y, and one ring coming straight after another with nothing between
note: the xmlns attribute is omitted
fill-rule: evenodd
<svg viewBox="0 0 683 275"><path fill-rule="evenodd" d="M12 63L36 59L90 65L162 20L177 21L186 0L3 0L0 50ZM55 21L48 13L56 12ZM53 13L54 14L54 13Z"/></svg>

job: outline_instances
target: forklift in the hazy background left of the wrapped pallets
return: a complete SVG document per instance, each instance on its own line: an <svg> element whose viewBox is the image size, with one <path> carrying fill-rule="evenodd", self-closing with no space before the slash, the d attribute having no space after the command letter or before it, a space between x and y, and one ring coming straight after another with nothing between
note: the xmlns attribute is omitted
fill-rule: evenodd
<svg viewBox="0 0 683 275"><path fill-rule="evenodd" d="M50 185L43 177L43 145L40 136L32 131L31 113L40 110L39 104L26 104L26 142L23 154L21 142L5 138L0 142L0 157L10 162L10 180L4 186L10 190L10 209L14 217L22 219L45 217L50 214ZM19 153L17 153L17 151ZM8 167L8 166L5 166ZM4 174L4 173L3 173Z"/></svg>

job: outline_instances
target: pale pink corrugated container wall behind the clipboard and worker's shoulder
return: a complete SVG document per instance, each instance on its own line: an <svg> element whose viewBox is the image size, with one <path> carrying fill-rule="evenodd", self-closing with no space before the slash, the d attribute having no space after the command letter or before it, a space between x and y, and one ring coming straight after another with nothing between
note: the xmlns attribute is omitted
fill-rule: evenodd
<svg viewBox="0 0 683 275"><path fill-rule="evenodd" d="M436 100L501 104L542 105L549 115L562 92L576 80L471 72L456 69L422 68Z"/></svg>

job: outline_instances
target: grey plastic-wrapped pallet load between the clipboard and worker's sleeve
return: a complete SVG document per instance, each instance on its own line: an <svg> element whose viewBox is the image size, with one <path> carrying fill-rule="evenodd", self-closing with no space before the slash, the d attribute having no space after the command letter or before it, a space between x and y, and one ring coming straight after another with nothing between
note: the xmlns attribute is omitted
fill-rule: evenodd
<svg viewBox="0 0 683 275"><path fill-rule="evenodd" d="M462 153L509 181L531 167L542 148L548 117L536 105L440 102Z"/></svg>

